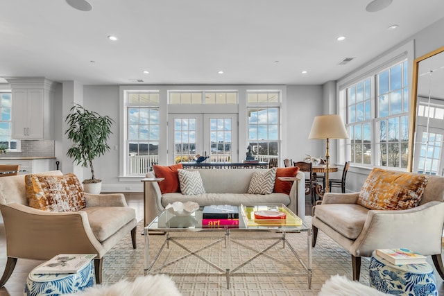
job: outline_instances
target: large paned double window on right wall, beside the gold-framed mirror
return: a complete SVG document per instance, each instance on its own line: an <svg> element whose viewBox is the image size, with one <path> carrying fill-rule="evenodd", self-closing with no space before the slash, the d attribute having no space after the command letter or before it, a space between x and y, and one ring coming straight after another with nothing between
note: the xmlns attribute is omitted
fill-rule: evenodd
<svg viewBox="0 0 444 296"><path fill-rule="evenodd" d="M345 89L353 164L407 168L409 91L407 60Z"/></svg>

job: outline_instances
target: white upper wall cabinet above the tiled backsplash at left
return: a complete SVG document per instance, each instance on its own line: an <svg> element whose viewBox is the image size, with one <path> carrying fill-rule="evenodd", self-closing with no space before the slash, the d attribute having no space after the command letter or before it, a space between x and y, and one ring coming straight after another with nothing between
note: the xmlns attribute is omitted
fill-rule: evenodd
<svg viewBox="0 0 444 296"><path fill-rule="evenodd" d="M53 139L54 82L46 78L10 78L12 139Z"/></svg>

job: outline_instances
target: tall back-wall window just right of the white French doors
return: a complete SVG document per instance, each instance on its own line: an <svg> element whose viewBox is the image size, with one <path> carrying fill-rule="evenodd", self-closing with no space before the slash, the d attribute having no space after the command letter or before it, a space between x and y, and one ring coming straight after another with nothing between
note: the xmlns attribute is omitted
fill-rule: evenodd
<svg viewBox="0 0 444 296"><path fill-rule="evenodd" d="M280 150L280 92L248 91L248 146L256 160L278 159Z"/></svg>

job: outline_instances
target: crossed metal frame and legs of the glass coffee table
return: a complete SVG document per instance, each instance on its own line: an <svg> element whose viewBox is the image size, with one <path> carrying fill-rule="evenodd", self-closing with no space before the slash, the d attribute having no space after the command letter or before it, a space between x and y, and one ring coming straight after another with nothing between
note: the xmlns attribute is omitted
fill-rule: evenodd
<svg viewBox="0 0 444 296"><path fill-rule="evenodd" d="M202 207L196 211L196 222L199 220L201 221L201 211ZM241 209L239 207L239 215L241 214ZM311 288L311 228L307 227L307 225L302 224L301 226L293 226L293 227L257 227L257 228L248 228L245 225L245 221L243 218L239 217L239 228L203 228L200 222L200 225L193 225L192 227L184 227L184 228L178 228L178 227L171 227L171 225L164 224L163 221L168 218L172 218L172 214L170 214L167 211L162 211L162 213L157 216L152 223L150 223L148 226L144 228L144 234L145 234L145 265L144 265L144 273L145 275L148 274L154 274L154 273L167 273L167 275L225 275L226 278L226 284L227 289L230 287L230 277L231 276L246 276L246 275L287 275L291 277L295 276L301 276L306 275L307 276L307 283L308 288ZM200 216L200 217L199 217ZM177 221L177 220L176 220ZM186 225L185 225L186 226ZM183 225L182 225L183 227ZM175 236L174 234L177 232L195 232L195 236ZM208 232L220 232L221 236L203 236L203 234ZM271 240L271 243L264 248L264 250L255 250L253 247L250 247L246 243L242 243L243 240L250 240L251 237L244 236L244 239L234 239L231 237L232 232L273 232L276 235L264 238L260 237L257 239L260 240ZM295 248L289 243L287 240L287 234L288 233L301 233L301 232L307 232L307 262L304 262L298 252L295 250ZM150 257L148 254L149 251L149 241L150 241L150 234L164 234L164 242L162 246L160 247L160 250L157 251L157 254L153 257L153 260L150 262ZM211 243L208 243L207 245L204 245L203 247L198 248L198 250L191 250L189 247L183 245L180 243L180 240L202 240L203 238L211 238L214 239ZM179 258L172 259L171 261L164 263L161 266L158 266L156 268L153 268L157 259L159 259L160 254L162 254L162 251L165 248L169 248L169 244L174 243L175 245L178 245L178 247L182 248L183 250L187 251L187 254L180 256ZM205 259L203 256L200 256L198 254L200 251L206 250L209 247L212 247L213 245L216 245L217 243L225 243L225 266L219 266L211 261ZM245 247L248 250L252 250L256 252L256 254L249 259L246 259L246 261L240 263L237 266L232 267L231 262L231 244L236 243L237 245L241 245L242 247ZM282 248L289 247L289 250L291 250L291 253L298 259L299 269L302 269L303 272L300 272L298 268L292 263L289 263L289 261L282 261L281 259L277 259L271 254L266 254L268 250L271 250L272 247L275 245L278 245L279 243L282 243ZM216 272L161 272L163 268L166 268L167 266L176 263L182 259L187 258L188 256L196 256L196 258L204 261L208 265L211 265ZM259 256L266 256L270 259L273 259L275 261L279 261L280 263L284 265L291 265L291 269L295 270L295 272L238 272L240 268L242 268L244 265L250 263L254 259L256 259Z"/></svg>

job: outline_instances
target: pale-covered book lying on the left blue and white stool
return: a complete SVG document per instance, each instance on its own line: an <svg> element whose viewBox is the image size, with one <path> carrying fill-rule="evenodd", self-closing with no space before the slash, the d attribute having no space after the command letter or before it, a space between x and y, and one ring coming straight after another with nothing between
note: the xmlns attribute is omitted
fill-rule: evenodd
<svg viewBox="0 0 444 296"><path fill-rule="evenodd" d="M33 270L33 274L77 273L96 257L96 254L58 254Z"/></svg>

